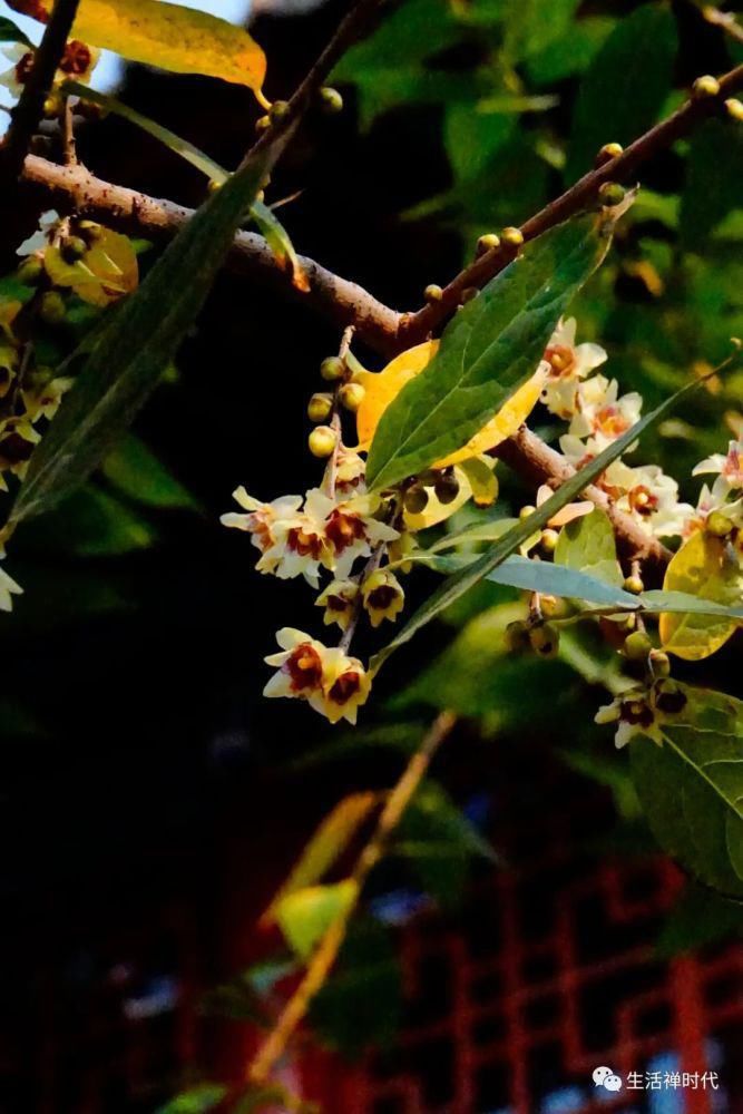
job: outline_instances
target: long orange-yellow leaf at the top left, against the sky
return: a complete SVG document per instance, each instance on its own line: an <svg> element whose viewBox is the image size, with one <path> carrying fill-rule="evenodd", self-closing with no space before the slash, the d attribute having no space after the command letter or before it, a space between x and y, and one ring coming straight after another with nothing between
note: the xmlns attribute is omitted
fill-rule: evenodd
<svg viewBox="0 0 743 1114"><path fill-rule="evenodd" d="M17 0L14 7L39 18L38 9L48 13L53 2ZM80 0L72 36L135 62L219 77L256 92L266 72L265 55L244 28L165 0Z"/></svg>

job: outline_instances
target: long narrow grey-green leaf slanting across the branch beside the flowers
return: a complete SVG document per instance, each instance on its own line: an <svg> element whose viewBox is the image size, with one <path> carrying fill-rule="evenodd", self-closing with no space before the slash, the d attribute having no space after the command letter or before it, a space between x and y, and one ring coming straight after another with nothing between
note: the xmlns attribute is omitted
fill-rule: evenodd
<svg viewBox="0 0 743 1114"><path fill-rule="evenodd" d="M419 377L420 378L420 377ZM413 616L408 620L405 626L402 628L400 634L379 654L373 658L373 668L379 670L382 663L389 657L393 651L399 646L404 645L407 642L413 637L413 635L430 623L444 607L449 607L456 599L469 590L473 585L478 584L483 577L492 573L493 569L501 565L507 557L510 557L518 547L536 534L537 530L541 530L549 519L561 510L566 504L571 502L576 496L578 496L589 483L593 483L602 472L608 468L613 460L620 457L629 446L641 437L646 429L657 424L665 416L673 410L673 408L678 403L682 398L685 398L691 391L698 389L700 380L695 383L688 383L683 387L675 394L662 402L659 407L652 410L649 413L645 414L635 426L633 426L626 433L613 441L603 452L586 465L575 476L566 480L565 483L560 485L554 496L550 496L541 507L537 508L534 514L529 515L528 518L519 521L518 525L511 527L511 529L505 534L492 548L479 557L476 561L469 565L467 568L453 576L449 577L444 584L441 585L426 603L419 607L419 609L413 614Z"/></svg>

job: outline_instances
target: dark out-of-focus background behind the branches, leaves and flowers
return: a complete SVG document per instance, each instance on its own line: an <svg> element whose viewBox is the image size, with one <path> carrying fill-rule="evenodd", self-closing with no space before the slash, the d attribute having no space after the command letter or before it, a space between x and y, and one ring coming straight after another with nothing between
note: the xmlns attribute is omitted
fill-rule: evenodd
<svg viewBox="0 0 743 1114"><path fill-rule="evenodd" d="M292 89L345 7L276 12L266 4L254 14L270 96ZM212 8L244 14L239 3ZM694 77L735 58L741 48L691 2L405 0L342 63L335 80L345 111L311 116L268 201L299 190L281 211L297 250L398 309L416 307L427 283L446 281L471 256L478 235L524 221L583 173L603 143L628 141L675 107ZM127 104L227 166L238 162L258 115L247 90L211 80L107 63L98 84L116 84ZM189 205L203 197L195 170L124 120L86 123L79 148L100 177ZM740 127L723 121L655 159L610 261L575 307L581 338L604 344L610 373L623 390L641 390L648 408L722 360L729 338L743 334L741 180ZM146 267L147 254L141 262ZM301 305L222 275L177 373L102 475L13 539L8 566L26 594L3 616L0 674L0 1110L8 1114L134 1114L154 1111L188 1082L234 1078L254 1039L244 1024L250 1009L231 998L202 1010L209 988L275 949L253 925L303 840L344 792L391 783L440 706L461 712L467 725L437 766L432 827L409 838L448 850L419 861L397 857L380 873L372 935L379 925L436 920L426 910L437 901L443 921L430 931L444 931L443 924L448 941L489 924L478 895L489 892L495 874L497 886L509 876L481 856L470 862L470 830L460 838L447 828L457 823L456 802L499 853L541 863L535 892L554 896L567 886L567 874L550 873L550 846L564 849L571 879L598 871L602 899L612 885L607 861L620 862L619 871L653 864L645 891L637 883L627 899L632 940L607 937L599 913L586 913L585 940L608 940L599 968L635 938L647 957L661 940L664 956L704 964L732 955L740 964L740 950L724 942L740 930L740 913L711 895L690 895L674 868L653 858L626 763L593 725L608 654L598 641L576 638L554 663L508 658L492 634L515 594L478 589L401 653L354 737L343 729L329 735L306 710L261 698L274 631L315 629L316 618L302 585L255 574L248 540L224 530L218 516L232 509L238 483L266 499L314 485L305 404L338 341ZM372 353L359 355L379 368ZM691 467L740 429L741 395L740 377L715 383L637 459L663 463L695 499ZM560 432L546 414L536 424L548 439ZM531 501L506 469L501 483L498 514ZM433 584L420 574L411 597ZM740 642L682 675L741 695ZM336 761L327 760L329 747ZM619 889L624 900L629 891ZM500 893L488 908L504 901ZM534 901L530 909L525 938L529 924L541 924L553 944L560 938L551 915ZM497 919L475 955L496 949ZM394 1046L402 1010L395 948L404 931L385 935L383 961L373 952L387 997L379 983L362 984L380 1009L362 1017L358 987L327 1007L323 1028L334 1045L358 1051L365 1037L385 1037ZM449 975L434 966L426 976L429 989L454 985L451 971L463 969L457 954ZM723 1037L714 1047L701 1038L697 1048L710 1064L726 1065L727 1105L632 1108L741 1108L731 1066L741 1054L734 967L721 968ZM664 979L641 978L638 993ZM604 997L615 993L609 986ZM491 1006L508 1000L495 985L481 994ZM437 1007L423 996L416 1008L423 1024ZM441 1008L457 1016L446 994ZM580 1008L588 1028L599 1024L597 1006ZM547 1024L559 1028L559 1016ZM613 1047L609 1029L597 1048ZM657 1023L648 1032L665 1029ZM393 1063L388 1076L409 1072L420 1082L443 1056L427 1047L428 1068ZM654 1047L653 1055L674 1056L678 1040L664 1036ZM567 1105L538 1105L571 1085L559 1057L525 1068L531 1105L515 1106L514 1055L502 1078L472 1084L469 1097L451 1089L453 1068L440 1072L420 1108L592 1108L583 1085ZM336 1096L345 1071L335 1062L327 1068ZM359 1102L362 1092L356 1078ZM339 1107L344 1114L349 1103ZM379 1106L388 1108L419 1107Z"/></svg>

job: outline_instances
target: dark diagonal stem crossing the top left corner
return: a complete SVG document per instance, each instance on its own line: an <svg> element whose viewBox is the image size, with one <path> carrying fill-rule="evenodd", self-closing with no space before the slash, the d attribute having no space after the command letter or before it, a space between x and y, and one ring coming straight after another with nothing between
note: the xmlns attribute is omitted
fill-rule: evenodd
<svg viewBox="0 0 743 1114"><path fill-rule="evenodd" d="M55 74L65 55L65 47L72 30L79 0L56 0L43 38L36 51L33 66L16 106L8 135L2 147L2 185L14 185L22 169L23 159L39 126L43 102L55 80Z"/></svg>

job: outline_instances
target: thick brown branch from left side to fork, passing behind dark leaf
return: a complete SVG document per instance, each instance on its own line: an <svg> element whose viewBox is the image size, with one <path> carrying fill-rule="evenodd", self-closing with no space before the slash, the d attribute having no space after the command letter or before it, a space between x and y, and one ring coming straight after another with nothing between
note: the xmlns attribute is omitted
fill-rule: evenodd
<svg viewBox="0 0 743 1114"><path fill-rule="evenodd" d="M38 190L45 204L61 212L74 209L81 216L153 241L173 237L193 216L193 209L183 205L101 182L84 166L59 166L36 155L26 159L23 182ZM265 240L254 233L238 233L227 263L234 271L311 305L340 325L354 324L359 339L375 351L393 350L400 314L313 260L300 258L309 282L306 292L294 286L291 272L277 262Z"/></svg>

